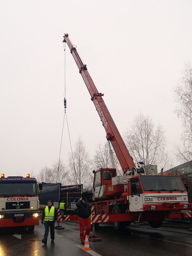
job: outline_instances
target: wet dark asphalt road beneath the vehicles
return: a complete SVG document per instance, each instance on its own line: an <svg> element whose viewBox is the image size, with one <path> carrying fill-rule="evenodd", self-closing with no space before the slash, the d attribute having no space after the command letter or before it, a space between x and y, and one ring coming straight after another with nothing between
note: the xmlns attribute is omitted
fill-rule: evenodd
<svg viewBox="0 0 192 256"><path fill-rule="evenodd" d="M29 233L21 229L0 229L0 256L88 256L78 247L79 227L77 223L62 223L64 230L55 230L55 243L50 234L47 245L41 242L44 226L35 227ZM102 256L191 256L192 232L187 228L161 227L152 229L148 225L130 226L123 232L116 232L110 223L101 224L96 235L100 242L91 242L91 253ZM95 255L97 255L95 254ZM97 255L98 256L98 255Z"/></svg>

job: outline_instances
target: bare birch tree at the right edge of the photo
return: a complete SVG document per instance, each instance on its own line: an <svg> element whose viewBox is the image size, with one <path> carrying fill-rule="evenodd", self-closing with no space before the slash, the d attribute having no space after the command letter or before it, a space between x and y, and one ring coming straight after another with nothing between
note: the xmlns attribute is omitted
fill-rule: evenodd
<svg viewBox="0 0 192 256"><path fill-rule="evenodd" d="M183 132L181 145L175 146L178 160L185 162L192 160L192 67L185 63L183 76L175 88L175 113L181 119Z"/></svg>

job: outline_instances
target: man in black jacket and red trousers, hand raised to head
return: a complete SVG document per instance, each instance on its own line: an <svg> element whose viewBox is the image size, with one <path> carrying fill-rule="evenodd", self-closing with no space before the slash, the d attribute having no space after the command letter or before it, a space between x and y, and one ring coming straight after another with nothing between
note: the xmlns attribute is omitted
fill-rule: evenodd
<svg viewBox="0 0 192 256"><path fill-rule="evenodd" d="M86 197L80 198L77 203L77 212L79 215L78 221L79 221L79 228L80 228L80 239L81 244L84 245L85 236L89 235L91 230L91 206L86 202ZM86 230L84 232L84 229L86 227Z"/></svg>

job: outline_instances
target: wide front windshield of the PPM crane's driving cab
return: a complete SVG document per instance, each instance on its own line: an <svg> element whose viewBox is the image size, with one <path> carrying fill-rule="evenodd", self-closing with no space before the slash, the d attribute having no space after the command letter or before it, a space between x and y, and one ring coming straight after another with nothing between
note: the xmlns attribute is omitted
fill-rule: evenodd
<svg viewBox="0 0 192 256"><path fill-rule="evenodd" d="M179 176L140 176L144 191L185 191Z"/></svg>

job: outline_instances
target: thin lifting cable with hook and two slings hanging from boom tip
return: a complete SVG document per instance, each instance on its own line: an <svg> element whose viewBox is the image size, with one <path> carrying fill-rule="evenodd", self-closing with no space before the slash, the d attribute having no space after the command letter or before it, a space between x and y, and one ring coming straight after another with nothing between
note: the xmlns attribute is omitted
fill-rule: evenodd
<svg viewBox="0 0 192 256"><path fill-rule="evenodd" d="M65 121L65 115L66 115L66 121L67 121L67 113L66 113L66 108L67 108L67 101L66 101L66 80L65 80L65 63L66 63L66 57L65 57L65 45L63 45L64 47L64 87L65 87L65 94L64 94L64 108L65 108L65 112L64 112L64 117L63 117L63 127L64 127L64 121ZM70 138L70 133L69 133L69 126L68 126L68 121L67 121L67 129L68 129L68 134L69 134L69 141L70 141L70 146L71 146L71 138ZM62 138L63 138L63 128L62 128L62 134L61 134L61 145L62 145ZM58 169L57 169L57 180L58 180L58 175L59 175L59 164L60 164L60 156L61 156L61 145L60 145L60 152L59 152L59 162L58 162ZM76 179L76 183L77 183L77 174L76 174L76 170L75 170L75 163L74 163L74 158L73 158L73 151L72 151L72 146L71 146L71 155L72 155L72 159L73 159L73 167L74 167L74 171L75 171L75 179ZM56 182L57 183L57 182ZM78 188L78 183L77 183L77 188Z"/></svg>

